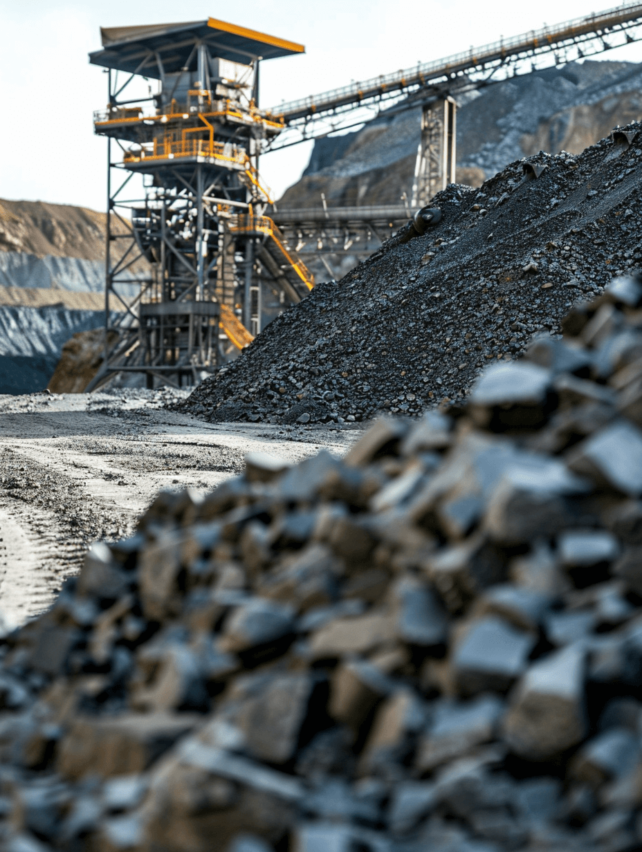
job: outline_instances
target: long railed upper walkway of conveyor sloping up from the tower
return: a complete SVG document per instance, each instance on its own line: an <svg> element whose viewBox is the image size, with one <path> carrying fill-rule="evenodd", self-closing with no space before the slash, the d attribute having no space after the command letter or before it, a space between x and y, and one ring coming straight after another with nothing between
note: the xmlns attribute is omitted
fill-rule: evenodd
<svg viewBox="0 0 642 852"><path fill-rule="evenodd" d="M382 74L363 80L361 83L350 83L340 89L332 89L320 95L309 95L298 101L283 103L273 107L270 112L280 116L286 124L297 118L313 116L319 112L327 112L337 107L350 104L360 104L370 98L393 91L408 89L415 85L424 86L436 83L442 78L464 72L471 68L488 65L497 60L506 60L509 56L519 54L533 55L555 49L564 42L573 41L584 36L597 33L602 35L614 27L631 25L639 20L642 23L642 3L626 3L615 9L607 9L599 14L574 18L555 26L544 26L539 30L531 30L511 38L486 44L483 47L447 56L443 59L425 62L405 70Z"/></svg>

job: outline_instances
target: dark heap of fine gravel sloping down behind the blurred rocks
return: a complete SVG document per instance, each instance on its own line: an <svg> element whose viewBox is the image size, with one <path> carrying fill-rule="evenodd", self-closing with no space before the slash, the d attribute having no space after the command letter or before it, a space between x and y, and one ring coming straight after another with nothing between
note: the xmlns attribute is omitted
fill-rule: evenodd
<svg viewBox="0 0 642 852"><path fill-rule="evenodd" d="M630 147L538 154L535 180L517 161L478 192L448 187L433 201L437 226L317 285L200 385L188 411L340 422L462 397L483 365L558 332L578 297L642 258L642 133L628 130Z"/></svg>

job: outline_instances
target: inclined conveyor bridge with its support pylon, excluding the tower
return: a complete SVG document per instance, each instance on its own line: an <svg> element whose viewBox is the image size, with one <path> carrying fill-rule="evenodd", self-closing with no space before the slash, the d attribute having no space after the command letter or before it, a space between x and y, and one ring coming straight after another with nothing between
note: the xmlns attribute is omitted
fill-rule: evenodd
<svg viewBox="0 0 642 852"><path fill-rule="evenodd" d="M458 96L502 78L552 63L564 65L599 55L640 38L642 3L639 2L623 3L614 9L502 37L442 59L419 62L413 67L297 101L282 102L273 112L286 125L286 132L268 141L266 148L279 150L301 141L344 133L379 115L420 109L420 136L410 199L411 207L416 210L454 182ZM309 218L307 213L306 217ZM353 222L356 222L354 213Z"/></svg>

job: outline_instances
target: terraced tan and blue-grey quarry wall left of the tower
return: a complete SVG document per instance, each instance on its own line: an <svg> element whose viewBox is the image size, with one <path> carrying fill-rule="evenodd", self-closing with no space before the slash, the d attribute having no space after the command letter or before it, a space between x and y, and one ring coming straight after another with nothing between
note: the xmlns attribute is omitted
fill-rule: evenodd
<svg viewBox="0 0 642 852"><path fill-rule="evenodd" d="M104 325L106 224L70 204L0 200L0 393L43 390L63 343Z"/></svg>

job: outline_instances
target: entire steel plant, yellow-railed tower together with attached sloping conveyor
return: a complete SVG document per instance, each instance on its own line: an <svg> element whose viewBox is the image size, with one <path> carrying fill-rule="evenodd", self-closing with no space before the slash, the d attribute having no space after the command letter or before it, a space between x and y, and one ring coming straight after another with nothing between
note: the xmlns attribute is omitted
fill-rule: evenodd
<svg viewBox="0 0 642 852"><path fill-rule="evenodd" d="M309 268L338 278L454 181L458 96L542 61L638 41L641 31L642 3L625 3L262 110L260 62L302 45L213 18L102 29L90 61L108 74L95 132L108 141L106 316L107 332L118 334L106 334L117 343L91 387L127 370L146 372L148 383L198 381L307 295ZM141 79L157 90L129 97ZM269 207L260 154L415 108L411 199L393 208L332 209L325 199L309 210ZM136 174L142 197L124 199ZM112 250L117 239L129 245ZM107 309L114 296L118 314Z"/></svg>

